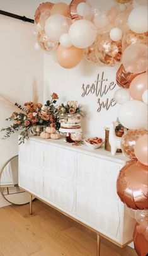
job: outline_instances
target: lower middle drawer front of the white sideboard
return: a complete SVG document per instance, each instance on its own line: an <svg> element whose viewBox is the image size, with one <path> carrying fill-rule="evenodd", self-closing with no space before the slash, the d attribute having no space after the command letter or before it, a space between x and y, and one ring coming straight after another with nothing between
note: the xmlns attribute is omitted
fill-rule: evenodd
<svg viewBox="0 0 148 256"><path fill-rule="evenodd" d="M74 213L74 185L72 182L44 172L43 197L65 211Z"/></svg>

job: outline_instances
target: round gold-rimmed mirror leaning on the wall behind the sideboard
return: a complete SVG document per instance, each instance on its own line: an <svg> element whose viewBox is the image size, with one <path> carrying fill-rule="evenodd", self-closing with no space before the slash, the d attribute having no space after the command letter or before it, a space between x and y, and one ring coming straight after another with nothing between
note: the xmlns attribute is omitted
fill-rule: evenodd
<svg viewBox="0 0 148 256"><path fill-rule="evenodd" d="M18 186L18 156L9 159L0 173L0 190L11 204L28 204L30 195Z"/></svg>

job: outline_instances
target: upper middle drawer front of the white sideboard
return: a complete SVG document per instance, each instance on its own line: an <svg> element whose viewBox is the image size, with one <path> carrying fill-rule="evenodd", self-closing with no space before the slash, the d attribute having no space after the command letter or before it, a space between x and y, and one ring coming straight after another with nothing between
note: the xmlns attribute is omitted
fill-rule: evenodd
<svg viewBox="0 0 148 256"><path fill-rule="evenodd" d="M49 145L45 145L43 150L43 168L59 177L73 181L76 173L76 153Z"/></svg>

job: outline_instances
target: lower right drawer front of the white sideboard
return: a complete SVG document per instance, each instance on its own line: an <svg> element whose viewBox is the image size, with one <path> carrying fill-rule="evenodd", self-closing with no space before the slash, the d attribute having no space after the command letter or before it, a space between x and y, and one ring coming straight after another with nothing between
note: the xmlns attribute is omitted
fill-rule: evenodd
<svg viewBox="0 0 148 256"><path fill-rule="evenodd" d="M77 185L76 216L112 239L120 239L120 201Z"/></svg>

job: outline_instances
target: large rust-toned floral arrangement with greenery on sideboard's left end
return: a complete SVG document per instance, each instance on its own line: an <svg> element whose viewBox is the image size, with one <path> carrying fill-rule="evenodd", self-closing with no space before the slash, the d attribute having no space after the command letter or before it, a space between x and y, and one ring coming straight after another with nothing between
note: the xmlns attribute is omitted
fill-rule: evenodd
<svg viewBox="0 0 148 256"><path fill-rule="evenodd" d="M26 102L21 107L21 105L15 103L16 111L12 113L11 117L6 119L7 121L13 121L13 124L1 129L1 131L6 131L6 135L3 138L6 139L14 132L21 130L19 139L19 144L21 144L25 142L25 139L29 139L30 134L34 134L33 130L37 125L55 127L55 129L59 130L58 109L55 107L59 96L57 93L53 93L51 97L52 99L47 100L45 105L33 101Z"/></svg>

